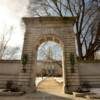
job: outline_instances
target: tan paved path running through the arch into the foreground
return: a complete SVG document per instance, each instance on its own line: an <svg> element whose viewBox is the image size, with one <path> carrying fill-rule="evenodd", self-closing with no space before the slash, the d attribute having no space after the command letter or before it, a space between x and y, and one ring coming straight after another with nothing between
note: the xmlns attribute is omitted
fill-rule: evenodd
<svg viewBox="0 0 100 100"><path fill-rule="evenodd" d="M64 94L62 86L62 84L57 83L53 78L48 78L39 84L36 93L16 97L0 96L0 100L85 100Z"/></svg>

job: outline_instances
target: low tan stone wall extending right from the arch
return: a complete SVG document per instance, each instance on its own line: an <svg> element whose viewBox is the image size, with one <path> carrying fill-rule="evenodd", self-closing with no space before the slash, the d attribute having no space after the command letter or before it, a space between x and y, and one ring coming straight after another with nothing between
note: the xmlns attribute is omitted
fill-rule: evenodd
<svg viewBox="0 0 100 100"><path fill-rule="evenodd" d="M100 63L80 63L81 83L87 81L92 87L100 88Z"/></svg>

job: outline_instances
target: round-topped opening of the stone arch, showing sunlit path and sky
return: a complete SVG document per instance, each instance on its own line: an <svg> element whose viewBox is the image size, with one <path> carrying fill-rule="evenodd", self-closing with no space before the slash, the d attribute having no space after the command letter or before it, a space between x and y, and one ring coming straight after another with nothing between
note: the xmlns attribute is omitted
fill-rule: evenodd
<svg viewBox="0 0 100 100"><path fill-rule="evenodd" d="M63 46L44 41L37 48L36 87L38 91L63 91Z"/></svg>

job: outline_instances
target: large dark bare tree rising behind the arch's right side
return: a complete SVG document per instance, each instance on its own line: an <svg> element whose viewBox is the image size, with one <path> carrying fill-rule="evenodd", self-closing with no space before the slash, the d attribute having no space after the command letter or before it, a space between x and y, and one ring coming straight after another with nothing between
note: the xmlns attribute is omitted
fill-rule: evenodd
<svg viewBox="0 0 100 100"><path fill-rule="evenodd" d="M92 58L94 52L100 48L100 35L97 32L97 28L100 27L100 0L42 0L39 6L47 16L76 17L78 56L80 59ZM38 7L33 9L33 12L42 16Z"/></svg>

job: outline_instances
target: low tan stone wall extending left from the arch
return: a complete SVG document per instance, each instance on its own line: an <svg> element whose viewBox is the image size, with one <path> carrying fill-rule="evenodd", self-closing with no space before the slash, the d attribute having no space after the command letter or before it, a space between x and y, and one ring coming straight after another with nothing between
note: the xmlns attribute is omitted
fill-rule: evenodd
<svg viewBox="0 0 100 100"><path fill-rule="evenodd" d="M0 88L4 88L8 80L17 82L20 66L20 61L0 61Z"/></svg>

